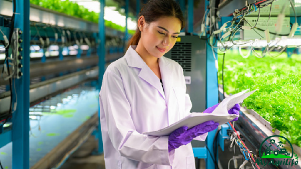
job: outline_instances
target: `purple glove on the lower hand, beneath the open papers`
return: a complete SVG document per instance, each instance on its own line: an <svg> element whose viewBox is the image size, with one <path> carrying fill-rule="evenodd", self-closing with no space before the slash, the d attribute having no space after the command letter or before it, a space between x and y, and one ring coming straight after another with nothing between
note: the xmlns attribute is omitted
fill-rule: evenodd
<svg viewBox="0 0 301 169"><path fill-rule="evenodd" d="M211 120L198 124L189 130L187 130L188 127L186 126L176 129L168 137L169 152L173 149L177 149L182 145L190 143L191 140L197 136L215 130L217 126L219 126L219 123L215 123Z"/></svg>

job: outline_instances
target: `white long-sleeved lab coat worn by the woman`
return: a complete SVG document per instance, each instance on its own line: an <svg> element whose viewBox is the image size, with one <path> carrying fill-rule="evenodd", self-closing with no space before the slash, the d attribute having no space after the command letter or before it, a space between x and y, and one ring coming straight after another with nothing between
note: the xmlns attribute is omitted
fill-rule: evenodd
<svg viewBox="0 0 301 169"><path fill-rule="evenodd" d="M168 136L142 134L165 128L190 112L183 69L174 60L159 58L163 91L135 48L130 46L107 67L99 93L106 169L195 169L191 143L168 152Z"/></svg>

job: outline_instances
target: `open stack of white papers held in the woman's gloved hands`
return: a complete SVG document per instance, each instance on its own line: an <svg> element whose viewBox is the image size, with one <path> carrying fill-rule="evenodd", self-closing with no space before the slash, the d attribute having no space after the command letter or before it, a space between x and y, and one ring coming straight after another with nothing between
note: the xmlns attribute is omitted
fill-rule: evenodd
<svg viewBox="0 0 301 169"><path fill-rule="evenodd" d="M198 124L201 124L206 121L213 120L214 122L218 122L219 125L225 124L231 120L233 120L236 117L239 117L239 115L229 115L228 110L230 110L235 104L242 103L244 99L249 97L251 94L253 94L255 91L250 91L248 93L245 93L247 90L241 91L237 94L234 94L230 97L225 98L219 106L216 107L216 109L212 113L196 113L192 112L190 115L186 116L185 118L171 124L170 126L160 129L158 131L152 131L152 132L145 132L143 134L151 135L151 136L168 136L171 134L174 130L187 126L188 129L192 128Z"/></svg>

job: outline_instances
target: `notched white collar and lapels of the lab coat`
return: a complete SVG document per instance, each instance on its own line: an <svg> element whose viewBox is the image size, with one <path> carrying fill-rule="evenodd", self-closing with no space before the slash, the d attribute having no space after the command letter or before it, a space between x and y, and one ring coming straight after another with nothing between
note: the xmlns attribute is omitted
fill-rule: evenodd
<svg viewBox="0 0 301 169"><path fill-rule="evenodd" d="M166 59L166 57L162 56L159 58L159 67L161 72L161 79L163 83L163 88L160 83L160 79L155 75L155 73L147 66L147 64L142 60L139 54L135 51L137 45L130 46L129 49L126 51L125 58L128 63L128 66L140 68L141 71L139 73L139 77L147 81L149 84L154 86L162 95L164 100L166 100L165 96L169 94L169 80L172 74L170 71L170 63Z"/></svg>

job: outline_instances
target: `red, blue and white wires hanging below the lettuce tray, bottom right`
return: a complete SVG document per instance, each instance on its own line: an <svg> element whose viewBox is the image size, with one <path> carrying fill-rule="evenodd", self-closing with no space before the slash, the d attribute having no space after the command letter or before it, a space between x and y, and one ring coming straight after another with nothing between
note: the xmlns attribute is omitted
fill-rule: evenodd
<svg viewBox="0 0 301 169"><path fill-rule="evenodd" d="M255 164L255 159L254 159L255 154L247 148L247 146L241 140L239 132L237 132L235 130L234 122L233 122L233 125L231 124L231 122L228 122L228 125L229 125L230 129L232 130L232 133L229 134L231 136L231 138L230 138L230 142L231 142L230 148L232 148L233 145L234 145L234 147L233 147L234 154L235 154L235 145L240 149L241 155L243 155L243 157L245 158L245 161L242 164L242 166L244 166L247 162L250 162L254 169L260 169L258 164ZM228 169L230 168L231 159L228 162Z"/></svg>

